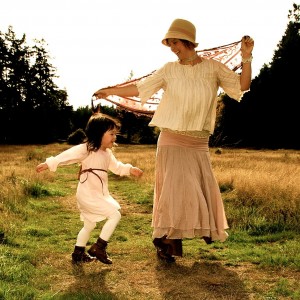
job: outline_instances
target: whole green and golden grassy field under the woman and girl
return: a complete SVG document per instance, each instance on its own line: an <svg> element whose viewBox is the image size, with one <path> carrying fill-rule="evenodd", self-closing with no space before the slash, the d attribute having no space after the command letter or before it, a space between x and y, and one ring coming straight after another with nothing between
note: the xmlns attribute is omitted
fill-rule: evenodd
<svg viewBox="0 0 300 300"><path fill-rule="evenodd" d="M186 239L183 257L165 264L151 239L155 146L119 145L117 158L145 173L110 175L122 207L113 264L73 265L79 167L35 172L67 148L0 146L0 299L300 299L300 151L211 149L229 238Z"/></svg>

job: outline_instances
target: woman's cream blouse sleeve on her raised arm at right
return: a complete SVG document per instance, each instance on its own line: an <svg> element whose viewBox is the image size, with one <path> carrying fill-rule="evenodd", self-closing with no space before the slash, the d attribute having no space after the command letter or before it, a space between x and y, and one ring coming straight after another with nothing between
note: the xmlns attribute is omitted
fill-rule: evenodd
<svg viewBox="0 0 300 300"><path fill-rule="evenodd" d="M245 91L241 91L240 75L222 63L218 63L218 65L220 87L230 98L240 101L245 93Z"/></svg>

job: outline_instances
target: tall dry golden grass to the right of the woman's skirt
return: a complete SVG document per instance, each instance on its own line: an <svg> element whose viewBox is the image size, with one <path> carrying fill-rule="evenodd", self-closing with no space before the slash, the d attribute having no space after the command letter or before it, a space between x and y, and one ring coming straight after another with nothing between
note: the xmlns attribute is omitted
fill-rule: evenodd
<svg viewBox="0 0 300 300"><path fill-rule="evenodd" d="M251 191L254 200L280 203L288 196L290 205L299 201L299 151L225 149L221 155L212 154L212 161L220 184L232 182L242 197Z"/></svg>

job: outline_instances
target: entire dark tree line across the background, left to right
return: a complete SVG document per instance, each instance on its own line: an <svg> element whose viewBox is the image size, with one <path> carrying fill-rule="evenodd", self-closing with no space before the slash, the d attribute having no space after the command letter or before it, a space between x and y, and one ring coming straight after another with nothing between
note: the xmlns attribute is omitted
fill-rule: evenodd
<svg viewBox="0 0 300 300"><path fill-rule="evenodd" d="M210 144L214 147L300 149L298 95L300 70L300 5L288 13L286 31L251 83L240 103L221 94ZM74 110L66 90L54 83L56 69L44 40L28 46L26 35L13 28L0 31L0 144L79 143L92 114L91 108ZM120 143L155 143L158 129L149 117L102 106L120 119Z"/></svg>

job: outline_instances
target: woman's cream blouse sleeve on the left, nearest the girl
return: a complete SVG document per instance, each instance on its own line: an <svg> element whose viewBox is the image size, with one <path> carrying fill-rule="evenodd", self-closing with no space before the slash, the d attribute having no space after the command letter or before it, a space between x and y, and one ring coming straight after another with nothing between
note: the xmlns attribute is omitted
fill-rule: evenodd
<svg viewBox="0 0 300 300"><path fill-rule="evenodd" d="M142 104L145 104L153 94L164 87L164 68L165 66L136 84Z"/></svg>

